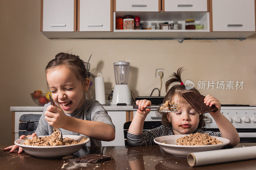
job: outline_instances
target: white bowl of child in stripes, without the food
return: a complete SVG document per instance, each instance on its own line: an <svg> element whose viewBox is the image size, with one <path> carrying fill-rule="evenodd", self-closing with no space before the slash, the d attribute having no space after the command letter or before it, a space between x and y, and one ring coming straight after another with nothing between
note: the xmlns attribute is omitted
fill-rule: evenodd
<svg viewBox="0 0 256 170"><path fill-rule="evenodd" d="M223 142L222 144L212 144L212 145L176 145L175 140L184 137L186 135L169 135L156 137L154 142L159 144L165 152L172 154L176 157L187 158L188 153L191 152L201 152L201 151L212 151L221 149L223 146L230 143L230 141L223 137L215 137L216 139ZM165 144L163 144L163 142Z"/></svg>

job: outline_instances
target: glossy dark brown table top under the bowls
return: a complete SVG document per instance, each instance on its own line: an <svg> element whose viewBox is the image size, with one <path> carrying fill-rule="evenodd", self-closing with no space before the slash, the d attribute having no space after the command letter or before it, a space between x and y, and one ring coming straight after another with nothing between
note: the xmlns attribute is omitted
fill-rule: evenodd
<svg viewBox="0 0 256 170"><path fill-rule="evenodd" d="M84 146L81 150L74 153L72 158L42 159L30 156L25 152L13 153L4 151L8 145L0 145L0 165L1 169L44 169L44 170L83 170L83 169L246 169L255 170L256 159L213 164L207 166L191 167L186 158L174 157L160 150L159 145L148 146ZM256 143L238 144L236 147L256 146ZM102 154L112 156L112 160L101 163L78 163L76 157L88 154Z"/></svg>

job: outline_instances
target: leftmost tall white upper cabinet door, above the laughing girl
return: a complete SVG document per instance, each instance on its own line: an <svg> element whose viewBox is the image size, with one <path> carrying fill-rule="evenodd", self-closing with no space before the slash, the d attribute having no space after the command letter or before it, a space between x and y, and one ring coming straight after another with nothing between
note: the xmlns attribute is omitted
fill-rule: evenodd
<svg viewBox="0 0 256 170"><path fill-rule="evenodd" d="M75 2L75 0L43 0L41 31L76 31Z"/></svg>

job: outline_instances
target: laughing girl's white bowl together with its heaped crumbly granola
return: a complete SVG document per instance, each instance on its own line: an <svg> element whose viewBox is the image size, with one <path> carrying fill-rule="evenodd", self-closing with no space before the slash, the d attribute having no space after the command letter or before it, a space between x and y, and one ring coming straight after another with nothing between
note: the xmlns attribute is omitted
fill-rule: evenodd
<svg viewBox="0 0 256 170"><path fill-rule="evenodd" d="M39 158L58 158L70 155L79 151L84 144L89 142L89 138L77 135L63 135L59 140L57 131L49 136L36 136L17 139L14 144L22 147L24 152Z"/></svg>

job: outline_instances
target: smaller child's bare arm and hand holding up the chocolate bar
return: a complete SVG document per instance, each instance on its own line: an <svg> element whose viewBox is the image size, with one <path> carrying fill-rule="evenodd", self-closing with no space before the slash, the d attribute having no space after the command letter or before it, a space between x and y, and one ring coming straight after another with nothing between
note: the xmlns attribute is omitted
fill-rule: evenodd
<svg viewBox="0 0 256 170"><path fill-rule="evenodd" d="M207 106L216 106L218 107L217 112L210 112L210 115L213 117L218 128L220 129L221 136L230 140L231 146L236 146L240 142L239 135L236 131L236 128L233 126L229 120L220 113L220 101L215 97L208 94L204 98L204 103Z"/></svg>

